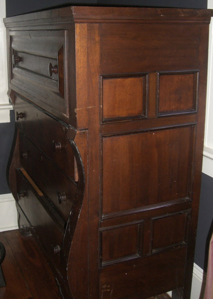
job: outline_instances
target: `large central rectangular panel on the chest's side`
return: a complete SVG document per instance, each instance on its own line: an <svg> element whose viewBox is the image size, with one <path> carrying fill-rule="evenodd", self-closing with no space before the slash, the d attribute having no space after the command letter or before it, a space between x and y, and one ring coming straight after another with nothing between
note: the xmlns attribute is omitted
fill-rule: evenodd
<svg viewBox="0 0 213 299"><path fill-rule="evenodd" d="M102 214L189 197L193 128L104 137Z"/></svg>

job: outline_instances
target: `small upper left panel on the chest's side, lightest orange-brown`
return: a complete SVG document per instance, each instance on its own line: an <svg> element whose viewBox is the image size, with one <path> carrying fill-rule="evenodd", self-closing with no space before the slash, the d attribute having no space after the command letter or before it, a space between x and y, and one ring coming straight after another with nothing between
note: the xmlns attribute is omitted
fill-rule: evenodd
<svg viewBox="0 0 213 299"><path fill-rule="evenodd" d="M102 121L146 115L147 76L102 76Z"/></svg>

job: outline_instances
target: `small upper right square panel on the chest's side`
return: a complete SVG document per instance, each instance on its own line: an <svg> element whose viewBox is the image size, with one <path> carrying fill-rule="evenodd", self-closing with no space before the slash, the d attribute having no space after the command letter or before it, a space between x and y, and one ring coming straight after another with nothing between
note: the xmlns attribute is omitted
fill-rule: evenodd
<svg viewBox="0 0 213 299"><path fill-rule="evenodd" d="M198 98L198 72L158 74L158 115L195 112Z"/></svg>

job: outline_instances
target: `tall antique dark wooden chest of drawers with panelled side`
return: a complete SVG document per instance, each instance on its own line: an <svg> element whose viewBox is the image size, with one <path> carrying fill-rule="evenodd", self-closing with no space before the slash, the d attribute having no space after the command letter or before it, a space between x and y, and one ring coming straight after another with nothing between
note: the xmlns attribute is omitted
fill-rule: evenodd
<svg viewBox="0 0 213 299"><path fill-rule="evenodd" d="M18 223L64 299L189 299L211 10L4 19Z"/></svg>

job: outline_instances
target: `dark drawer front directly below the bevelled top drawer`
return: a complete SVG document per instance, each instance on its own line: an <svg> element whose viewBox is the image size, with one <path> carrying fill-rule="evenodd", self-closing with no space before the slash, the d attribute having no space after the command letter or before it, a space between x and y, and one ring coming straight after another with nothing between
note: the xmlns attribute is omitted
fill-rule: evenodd
<svg viewBox="0 0 213 299"><path fill-rule="evenodd" d="M15 96L16 126L74 179L74 154L66 136L67 128L35 106Z"/></svg>

